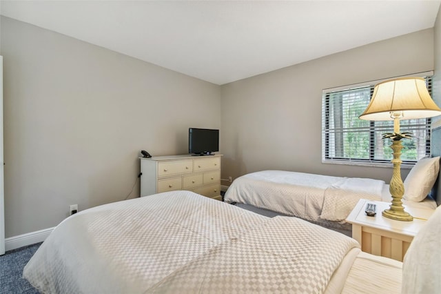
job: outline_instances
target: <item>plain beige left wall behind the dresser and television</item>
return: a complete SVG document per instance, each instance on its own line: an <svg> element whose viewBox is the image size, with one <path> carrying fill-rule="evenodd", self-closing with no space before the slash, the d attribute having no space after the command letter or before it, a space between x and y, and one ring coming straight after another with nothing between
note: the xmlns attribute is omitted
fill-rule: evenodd
<svg viewBox="0 0 441 294"><path fill-rule="evenodd" d="M6 17L1 55L6 237L124 199L141 149L185 154L189 127L220 128L214 84Z"/></svg>

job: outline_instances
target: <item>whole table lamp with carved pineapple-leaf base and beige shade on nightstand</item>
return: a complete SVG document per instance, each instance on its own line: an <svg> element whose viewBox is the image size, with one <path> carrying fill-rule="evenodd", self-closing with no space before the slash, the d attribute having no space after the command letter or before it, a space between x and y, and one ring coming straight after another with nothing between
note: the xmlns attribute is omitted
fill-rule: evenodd
<svg viewBox="0 0 441 294"><path fill-rule="evenodd" d="M390 219L410 222L413 217L404 211L402 196L404 184L401 179L401 139L409 139L411 133L400 133L401 119L422 119L441 115L441 109L429 95L426 81L420 77L403 77L391 79L376 84L373 88L371 102L360 119L369 121L393 120L393 133L386 133L382 138L392 140L393 175L389 185L392 203L389 209L383 210L382 215Z"/></svg>

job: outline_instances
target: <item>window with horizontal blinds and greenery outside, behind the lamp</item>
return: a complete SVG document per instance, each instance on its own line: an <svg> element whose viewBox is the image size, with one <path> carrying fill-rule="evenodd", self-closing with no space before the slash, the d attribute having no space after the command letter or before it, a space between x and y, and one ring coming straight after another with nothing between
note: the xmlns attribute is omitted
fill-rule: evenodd
<svg viewBox="0 0 441 294"><path fill-rule="evenodd" d="M426 77L431 94L431 77ZM393 121L358 119L367 108L374 85L323 93L322 99L322 159L323 162L387 165L392 156L390 139L383 133L393 132ZM413 133L412 139L402 139L403 165L415 164L430 154L430 119L400 121L400 132Z"/></svg>

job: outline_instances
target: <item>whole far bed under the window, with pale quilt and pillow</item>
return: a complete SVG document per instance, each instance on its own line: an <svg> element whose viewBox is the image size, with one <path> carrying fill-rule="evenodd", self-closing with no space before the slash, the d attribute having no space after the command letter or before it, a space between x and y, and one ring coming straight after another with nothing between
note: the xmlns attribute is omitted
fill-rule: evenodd
<svg viewBox="0 0 441 294"><path fill-rule="evenodd" d="M404 181L404 204L435 209L426 197L438 177L440 157L418 161ZM234 180L225 202L257 213L289 215L351 236L345 219L359 199L390 202L389 185L378 179L334 177L285 170L263 170Z"/></svg>

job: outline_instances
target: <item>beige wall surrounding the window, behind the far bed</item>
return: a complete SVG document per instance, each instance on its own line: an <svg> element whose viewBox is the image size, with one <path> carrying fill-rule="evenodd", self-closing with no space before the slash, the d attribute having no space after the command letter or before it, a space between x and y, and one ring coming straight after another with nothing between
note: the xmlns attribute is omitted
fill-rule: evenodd
<svg viewBox="0 0 441 294"><path fill-rule="evenodd" d="M223 86L223 178L283 169L389 183L391 168L322 164L322 89L427 70L433 70L433 29Z"/></svg>

